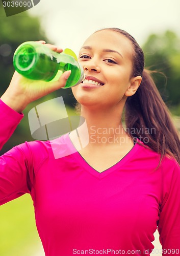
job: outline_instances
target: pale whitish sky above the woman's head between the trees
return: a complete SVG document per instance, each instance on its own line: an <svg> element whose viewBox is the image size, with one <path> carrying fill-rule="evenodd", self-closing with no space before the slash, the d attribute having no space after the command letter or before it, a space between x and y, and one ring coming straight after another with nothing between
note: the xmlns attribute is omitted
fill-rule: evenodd
<svg viewBox="0 0 180 256"><path fill-rule="evenodd" d="M142 46L151 33L173 30L180 36L179 0L41 0L29 10L39 16L47 38L78 54L94 31L117 27Z"/></svg>

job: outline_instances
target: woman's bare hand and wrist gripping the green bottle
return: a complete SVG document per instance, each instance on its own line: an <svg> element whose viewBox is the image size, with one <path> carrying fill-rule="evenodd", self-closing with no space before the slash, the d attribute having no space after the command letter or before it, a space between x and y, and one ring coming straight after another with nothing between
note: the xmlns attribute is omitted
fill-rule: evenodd
<svg viewBox="0 0 180 256"><path fill-rule="evenodd" d="M39 42L41 44L45 44L45 41ZM46 46L58 53L63 51L62 49L50 44L46 44ZM15 71L8 89L1 99L9 105L10 108L20 113L32 101L64 87L70 73L70 70L64 72L58 81L45 82L25 78Z"/></svg>

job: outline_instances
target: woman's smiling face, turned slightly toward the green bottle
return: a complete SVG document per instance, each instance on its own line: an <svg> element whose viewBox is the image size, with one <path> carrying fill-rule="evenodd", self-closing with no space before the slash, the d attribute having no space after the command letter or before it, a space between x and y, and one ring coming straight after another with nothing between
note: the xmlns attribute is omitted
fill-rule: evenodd
<svg viewBox="0 0 180 256"><path fill-rule="evenodd" d="M76 100L93 108L125 103L131 96L132 54L131 41L118 32L102 30L92 34L79 54L86 78L72 88Z"/></svg>

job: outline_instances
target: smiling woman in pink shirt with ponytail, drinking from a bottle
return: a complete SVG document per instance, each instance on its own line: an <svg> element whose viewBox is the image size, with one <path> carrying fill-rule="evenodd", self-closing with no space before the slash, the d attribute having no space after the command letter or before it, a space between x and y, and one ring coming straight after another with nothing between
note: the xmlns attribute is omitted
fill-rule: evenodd
<svg viewBox="0 0 180 256"><path fill-rule="evenodd" d="M72 131L14 147L1 158L1 203L31 194L47 256L149 255L157 226L163 255L179 254L180 143L141 48L125 31L104 29L85 41L79 61L86 77L72 92L86 120L78 130L86 145L76 150ZM1 98L2 145L25 106L62 88L69 75L34 89L37 82L14 74Z"/></svg>

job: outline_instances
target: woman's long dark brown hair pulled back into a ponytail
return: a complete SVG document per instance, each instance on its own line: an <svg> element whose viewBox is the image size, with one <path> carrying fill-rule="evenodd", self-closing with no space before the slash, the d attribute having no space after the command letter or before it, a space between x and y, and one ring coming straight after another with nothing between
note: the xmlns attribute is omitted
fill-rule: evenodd
<svg viewBox="0 0 180 256"><path fill-rule="evenodd" d="M118 28L101 30L118 32L132 42L134 48L132 77L138 75L142 77L136 93L127 97L125 102L126 131L133 140L138 138L151 150L160 154L159 165L166 155L175 158L180 164L179 134L171 120L171 114L151 77L151 72L144 69L142 49L135 38L124 30Z"/></svg>

